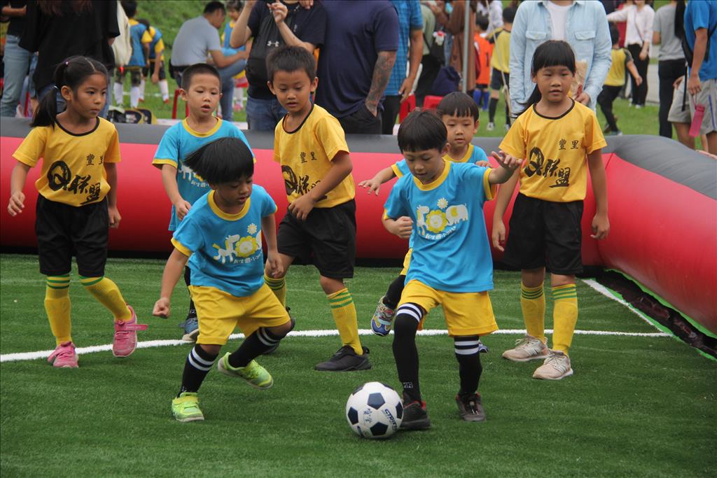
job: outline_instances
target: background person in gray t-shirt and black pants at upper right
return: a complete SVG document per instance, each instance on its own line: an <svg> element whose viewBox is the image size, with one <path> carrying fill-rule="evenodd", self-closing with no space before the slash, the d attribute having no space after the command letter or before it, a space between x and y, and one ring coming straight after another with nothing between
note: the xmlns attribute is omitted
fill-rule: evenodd
<svg viewBox="0 0 717 478"><path fill-rule="evenodd" d="M657 75L660 78L660 136L672 138L672 123L668 121L670 105L673 101L673 83L685 75L685 54L678 35L675 35L675 12L677 2L660 7L655 12L652 22L652 44L660 44L660 54L657 57ZM681 14L684 13L684 8ZM679 19L678 25L683 23Z"/></svg>

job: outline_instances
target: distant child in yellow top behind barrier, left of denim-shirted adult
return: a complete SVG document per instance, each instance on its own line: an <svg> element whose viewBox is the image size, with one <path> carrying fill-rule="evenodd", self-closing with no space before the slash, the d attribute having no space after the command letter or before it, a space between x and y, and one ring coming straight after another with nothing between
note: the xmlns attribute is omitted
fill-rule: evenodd
<svg viewBox="0 0 717 478"><path fill-rule="evenodd" d="M498 98L503 87L505 87L505 92L503 92L505 100L505 130L508 131L511 128L511 111L508 107L511 101L508 87L511 84L511 29L513 29L513 19L515 17L516 9L512 6L503 10L503 27L495 30L488 39L489 42L495 44L493 56L490 57L490 67L493 68L493 72L490 75L488 131L495 129L495 108L498 106Z"/></svg>

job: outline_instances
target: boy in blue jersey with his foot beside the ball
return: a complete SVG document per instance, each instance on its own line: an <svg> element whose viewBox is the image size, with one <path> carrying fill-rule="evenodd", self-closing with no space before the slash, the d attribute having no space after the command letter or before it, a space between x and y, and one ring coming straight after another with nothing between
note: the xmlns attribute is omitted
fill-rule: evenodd
<svg viewBox="0 0 717 478"><path fill-rule="evenodd" d="M447 130L435 113L412 113L398 133L399 148L411 174L399 178L386 201L384 226L396 234L397 219L408 216L414 234L413 254L394 319L394 358L403 386L404 429L427 429L430 421L418 379L416 333L427 313L442 305L448 334L455 343L461 419L485 421L478 391L481 335L498 330L488 290L493 289L493 261L483 218L483 202L493 199L494 185L504 183L520 161L493 153L497 169L452 163Z"/></svg>

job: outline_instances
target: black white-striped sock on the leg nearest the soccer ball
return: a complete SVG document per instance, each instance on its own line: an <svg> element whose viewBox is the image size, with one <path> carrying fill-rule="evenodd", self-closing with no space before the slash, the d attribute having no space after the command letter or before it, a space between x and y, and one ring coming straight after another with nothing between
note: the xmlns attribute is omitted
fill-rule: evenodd
<svg viewBox="0 0 717 478"><path fill-rule="evenodd" d="M394 360L399 380L403 385L404 402L421 400L418 384L418 349L416 332L423 317L423 310L416 304L399 307L394 320Z"/></svg>

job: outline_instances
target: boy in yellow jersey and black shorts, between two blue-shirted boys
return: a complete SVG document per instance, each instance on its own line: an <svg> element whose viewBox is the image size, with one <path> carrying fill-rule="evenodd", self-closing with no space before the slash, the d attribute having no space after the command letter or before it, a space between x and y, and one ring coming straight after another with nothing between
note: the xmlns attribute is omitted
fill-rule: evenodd
<svg viewBox="0 0 717 478"><path fill-rule="evenodd" d="M351 158L338 120L310 100L318 84L315 69L313 55L303 47L281 47L267 57L268 86L288 112L276 125L274 161L281 163L289 208L278 235L284 272L266 274L265 281L285 304L286 270L296 257L313 257L342 343L315 368L366 370L369 350L361 346L356 307L343 285L353 277L356 259Z"/></svg>

